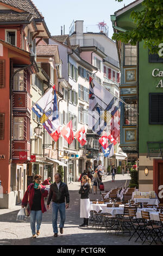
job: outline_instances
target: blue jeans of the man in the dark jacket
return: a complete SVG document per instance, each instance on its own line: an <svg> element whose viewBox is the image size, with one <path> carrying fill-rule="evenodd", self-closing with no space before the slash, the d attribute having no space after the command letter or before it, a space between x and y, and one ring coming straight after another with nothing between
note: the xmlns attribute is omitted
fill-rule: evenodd
<svg viewBox="0 0 163 256"><path fill-rule="evenodd" d="M52 216L53 232L58 233L58 227L57 227L58 210L60 212L59 228L64 228L65 218L66 218L65 203L59 204L59 203L52 202L52 210L53 210L53 216Z"/></svg>

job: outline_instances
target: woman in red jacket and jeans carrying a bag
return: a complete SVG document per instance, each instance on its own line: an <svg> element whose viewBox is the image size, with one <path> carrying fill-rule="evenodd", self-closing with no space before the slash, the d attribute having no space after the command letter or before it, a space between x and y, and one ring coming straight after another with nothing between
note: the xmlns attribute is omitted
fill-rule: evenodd
<svg viewBox="0 0 163 256"><path fill-rule="evenodd" d="M31 183L22 200L22 208L26 207L29 203L30 207L30 228L32 230L33 238L36 234L40 235L40 226L42 222L42 213L46 212L44 198L47 197L48 191L46 187L41 185L41 176L35 175L34 183ZM37 225L35 227L35 222ZM37 230L37 231L36 231Z"/></svg>

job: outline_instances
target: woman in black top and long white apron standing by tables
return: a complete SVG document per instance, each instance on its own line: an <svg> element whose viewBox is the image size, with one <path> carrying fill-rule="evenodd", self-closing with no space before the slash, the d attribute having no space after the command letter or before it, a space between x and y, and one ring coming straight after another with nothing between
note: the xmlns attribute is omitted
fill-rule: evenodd
<svg viewBox="0 0 163 256"><path fill-rule="evenodd" d="M80 218L84 218L83 224L79 227L88 227L89 217L90 217L90 199L89 191L90 184L87 182L88 177L84 175L82 177L82 186L80 187L79 194L81 194L80 199Z"/></svg>

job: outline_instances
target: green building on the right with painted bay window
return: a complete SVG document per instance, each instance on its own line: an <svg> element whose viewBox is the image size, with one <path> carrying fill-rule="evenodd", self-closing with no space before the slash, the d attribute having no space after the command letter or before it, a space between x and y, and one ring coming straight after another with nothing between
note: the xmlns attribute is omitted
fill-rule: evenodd
<svg viewBox="0 0 163 256"><path fill-rule="evenodd" d="M141 10L134 1L111 15L114 32L134 28L131 11ZM139 162L139 190L157 194L163 187L163 58L143 47L116 42L121 63L121 148ZM146 169L146 174L145 174ZM161 198L160 198L161 201Z"/></svg>

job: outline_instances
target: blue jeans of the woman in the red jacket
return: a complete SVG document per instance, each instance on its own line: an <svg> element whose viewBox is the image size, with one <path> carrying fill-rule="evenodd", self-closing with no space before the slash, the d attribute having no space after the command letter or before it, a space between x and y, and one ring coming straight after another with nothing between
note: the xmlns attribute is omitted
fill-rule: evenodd
<svg viewBox="0 0 163 256"><path fill-rule="evenodd" d="M35 222L37 223L35 227ZM30 228L32 229L32 235L36 234L36 230L40 230L42 222L42 211L30 211Z"/></svg>

